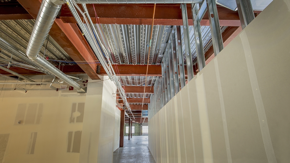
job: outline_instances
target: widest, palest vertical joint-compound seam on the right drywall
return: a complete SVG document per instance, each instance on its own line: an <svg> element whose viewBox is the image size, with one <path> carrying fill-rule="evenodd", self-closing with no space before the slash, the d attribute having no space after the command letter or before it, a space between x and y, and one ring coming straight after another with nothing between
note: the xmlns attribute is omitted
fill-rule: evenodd
<svg viewBox="0 0 290 163"><path fill-rule="evenodd" d="M198 113L200 116L200 131L202 135L203 159L206 163L213 163L213 148L211 144L211 129L207 110L206 94L203 74L198 73L195 79Z"/></svg>

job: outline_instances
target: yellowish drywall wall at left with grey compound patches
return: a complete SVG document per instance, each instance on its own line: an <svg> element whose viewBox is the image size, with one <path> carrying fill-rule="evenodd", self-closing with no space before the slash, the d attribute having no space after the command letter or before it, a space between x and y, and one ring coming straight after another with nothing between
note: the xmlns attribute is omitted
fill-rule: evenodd
<svg viewBox="0 0 290 163"><path fill-rule="evenodd" d="M30 77L52 80L48 76ZM120 118L113 95L116 87L110 80L103 80L88 79L86 94L69 91L68 87L55 91L49 84L0 85L27 90L0 89L0 162L97 162L102 144L99 140L103 140L100 135L104 133L101 129L106 125L101 122L102 113L108 109L114 112L110 124L113 131L118 130L115 119ZM4 81L16 80L0 78L0 82ZM108 84L111 89L104 88ZM19 120L21 124L17 124ZM113 136L106 141L119 144ZM103 157L112 155L113 148Z"/></svg>

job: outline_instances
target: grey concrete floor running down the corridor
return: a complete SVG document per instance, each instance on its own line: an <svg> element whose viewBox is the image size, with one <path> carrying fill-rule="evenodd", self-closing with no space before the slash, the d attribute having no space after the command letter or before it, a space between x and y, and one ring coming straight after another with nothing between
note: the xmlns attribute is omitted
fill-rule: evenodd
<svg viewBox="0 0 290 163"><path fill-rule="evenodd" d="M113 155L113 163L155 163L148 149L148 136L124 137L124 147Z"/></svg>

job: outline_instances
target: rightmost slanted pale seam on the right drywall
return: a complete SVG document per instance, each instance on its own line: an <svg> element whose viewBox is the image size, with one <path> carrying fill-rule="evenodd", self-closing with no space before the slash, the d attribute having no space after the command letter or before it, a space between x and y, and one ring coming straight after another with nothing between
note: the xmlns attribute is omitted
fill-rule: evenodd
<svg viewBox="0 0 290 163"><path fill-rule="evenodd" d="M246 56L250 82L251 82L253 96L254 96L257 112L258 112L258 118L259 118L259 123L260 123L260 128L261 128L261 133L262 133L262 138L264 142L264 148L266 151L267 159L268 159L268 162L276 163L277 160L275 157L275 153L274 153L274 149L273 149L273 145L272 145L272 141L271 141L271 137L269 133L268 122L267 122L266 113L265 113L265 109L264 109L264 105L262 101L262 96L261 96L259 85L258 85L258 79L255 72L255 66L253 62L251 47L250 47L247 33L245 30L241 32L240 38L241 38L242 45L244 48L244 53Z"/></svg>

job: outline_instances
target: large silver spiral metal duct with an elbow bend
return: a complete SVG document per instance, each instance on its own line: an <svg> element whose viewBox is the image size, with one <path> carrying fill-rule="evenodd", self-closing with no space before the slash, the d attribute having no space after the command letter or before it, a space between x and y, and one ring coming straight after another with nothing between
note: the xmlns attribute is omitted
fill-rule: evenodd
<svg viewBox="0 0 290 163"><path fill-rule="evenodd" d="M64 4L64 2L60 0L43 0L41 2L35 25L26 49L26 55L30 60L40 65L48 72L73 86L79 93L84 93L85 89L83 87L38 54L62 4Z"/></svg>

